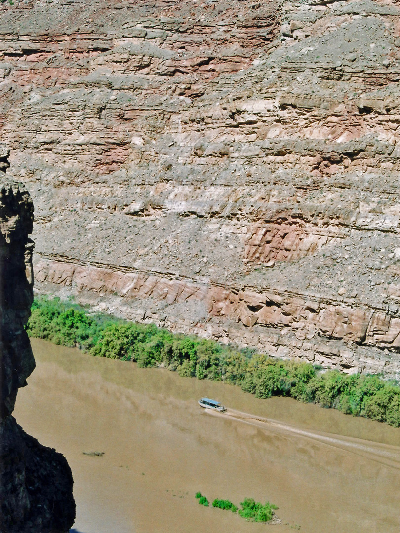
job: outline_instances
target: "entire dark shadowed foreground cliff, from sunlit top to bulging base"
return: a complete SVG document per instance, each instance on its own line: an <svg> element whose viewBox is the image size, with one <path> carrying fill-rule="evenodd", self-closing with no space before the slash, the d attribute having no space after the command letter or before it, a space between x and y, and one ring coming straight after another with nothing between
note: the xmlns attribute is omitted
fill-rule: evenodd
<svg viewBox="0 0 400 533"><path fill-rule="evenodd" d="M69 466L11 415L35 367L24 329L33 300L32 223L28 191L0 171L0 531L65 533L75 518Z"/></svg>

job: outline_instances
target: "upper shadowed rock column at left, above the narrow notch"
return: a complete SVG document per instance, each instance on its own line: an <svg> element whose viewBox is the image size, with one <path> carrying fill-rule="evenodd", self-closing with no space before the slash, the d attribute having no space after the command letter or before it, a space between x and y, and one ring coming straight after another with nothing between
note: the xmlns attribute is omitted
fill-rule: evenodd
<svg viewBox="0 0 400 533"><path fill-rule="evenodd" d="M0 173L3 174L3 173ZM0 175L0 418L35 368L24 326L33 300L33 203L26 188Z"/></svg>

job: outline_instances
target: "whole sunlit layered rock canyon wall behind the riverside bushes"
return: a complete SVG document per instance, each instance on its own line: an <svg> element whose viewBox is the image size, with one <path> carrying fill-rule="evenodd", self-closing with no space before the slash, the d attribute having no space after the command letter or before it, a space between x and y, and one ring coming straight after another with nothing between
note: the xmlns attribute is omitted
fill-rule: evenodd
<svg viewBox="0 0 400 533"><path fill-rule="evenodd" d="M398 2L1 9L39 290L400 377Z"/></svg>

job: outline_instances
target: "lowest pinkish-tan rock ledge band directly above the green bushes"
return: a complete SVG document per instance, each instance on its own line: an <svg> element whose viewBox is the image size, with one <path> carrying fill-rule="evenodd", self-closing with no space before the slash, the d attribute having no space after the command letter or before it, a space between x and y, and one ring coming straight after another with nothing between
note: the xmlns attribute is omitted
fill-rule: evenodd
<svg viewBox="0 0 400 533"><path fill-rule="evenodd" d="M399 375L397 306L374 308L354 297L222 285L67 257L42 256L37 279L45 288L61 285L101 309L109 309L112 302L111 310L133 320L250 345L276 357L298 357L347 373Z"/></svg>

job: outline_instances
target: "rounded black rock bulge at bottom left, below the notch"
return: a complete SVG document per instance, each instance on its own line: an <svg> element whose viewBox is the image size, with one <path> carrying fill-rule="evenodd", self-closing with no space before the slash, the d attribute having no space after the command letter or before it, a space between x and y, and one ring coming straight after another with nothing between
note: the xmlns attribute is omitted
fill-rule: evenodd
<svg viewBox="0 0 400 533"><path fill-rule="evenodd" d="M42 446L8 416L0 425L2 533L66 533L75 519L65 457Z"/></svg>

